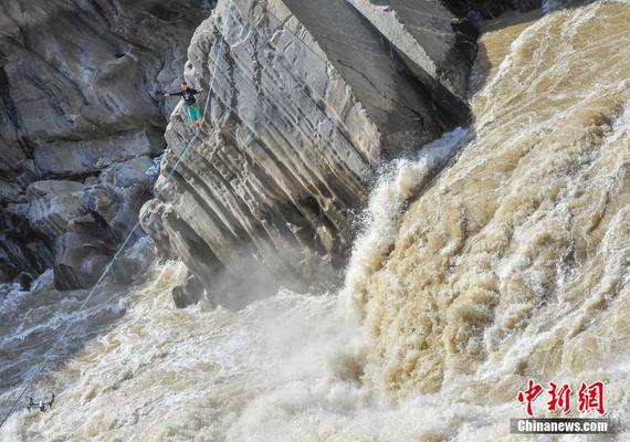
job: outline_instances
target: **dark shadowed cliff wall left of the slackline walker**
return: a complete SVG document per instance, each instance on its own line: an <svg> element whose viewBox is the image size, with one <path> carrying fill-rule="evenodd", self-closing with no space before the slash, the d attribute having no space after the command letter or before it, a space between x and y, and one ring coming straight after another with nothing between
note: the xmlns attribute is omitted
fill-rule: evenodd
<svg viewBox="0 0 630 442"><path fill-rule="evenodd" d="M0 1L0 281L91 285L150 194L206 0Z"/></svg>

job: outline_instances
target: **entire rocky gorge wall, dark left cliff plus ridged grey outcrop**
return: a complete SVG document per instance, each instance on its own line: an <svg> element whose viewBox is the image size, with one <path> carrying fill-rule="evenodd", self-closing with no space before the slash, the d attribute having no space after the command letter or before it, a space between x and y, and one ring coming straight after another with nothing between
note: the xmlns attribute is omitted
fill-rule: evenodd
<svg viewBox="0 0 630 442"><path fill-rule="evenodd" d="M0 1L0 281L95 281L154 185L177 103L155 93L177 87L213 3ZM187 67L208 87L217 65L210 124L166 183L191 135L175 114L145 228L207 283L260 263L316 278L381 158L468 119L475 31L456 17L504 3L220 3Z"/></svg>

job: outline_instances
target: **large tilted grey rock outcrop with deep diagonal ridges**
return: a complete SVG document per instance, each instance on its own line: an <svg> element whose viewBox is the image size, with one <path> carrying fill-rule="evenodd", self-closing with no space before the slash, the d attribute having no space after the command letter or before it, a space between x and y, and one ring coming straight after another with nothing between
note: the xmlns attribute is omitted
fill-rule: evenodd
<svg viewBox="0 0 630 442"><path fill-rule="evenodd" d="M218 275L240 281L260 267L275 284L340 270L349 210L381 159L468 120L474 30L462 33L438 1L406 3L417 13L406 17L432 18L401 36L381 20L387 11L358 0L219 1L186 71L208 91L216 69L207 125L180 158L192 130L183 108L174 113L158 198L144 208L162 253L210 288Z"/></svg>

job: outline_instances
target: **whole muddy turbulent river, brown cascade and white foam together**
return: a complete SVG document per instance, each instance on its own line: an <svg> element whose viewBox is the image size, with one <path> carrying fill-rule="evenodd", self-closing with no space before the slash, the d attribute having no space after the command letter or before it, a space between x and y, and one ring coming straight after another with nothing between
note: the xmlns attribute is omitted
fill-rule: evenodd
<svg viewBox="0 0 630 442"><path fill-rule="evenodd" d="M549 8L484 24L474 123L384 170L339 293L177 311L154 264L75 317L3 286L3 407L75 325L0 441L519 441L529 378L630 422L630 3Z"/></svg>

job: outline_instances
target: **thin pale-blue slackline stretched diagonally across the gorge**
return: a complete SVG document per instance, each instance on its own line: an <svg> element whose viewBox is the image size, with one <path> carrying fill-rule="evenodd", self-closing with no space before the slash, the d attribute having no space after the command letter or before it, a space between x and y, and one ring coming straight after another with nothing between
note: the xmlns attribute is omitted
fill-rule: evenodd
<svg viewBox="0 0 630 442"><path fill-rule="evenodd" d="M230 2L228 3L228 7L225 8L227 19L223 22L223 28L221 30L222 36L221 36L219 46L217 49L217 59L214 61L214 66L212 69L212 73L211 73L211 77L210 77L210 85L208 87L208 96L206 97L206 104L203 106L203 113L201 116L202 120L206 118L206 114L208 112L208 106L210 104L210 98L212 96L213 86L214 86L214 78L217 76L217 69L219 65L218 61L223 55L223 51L224 51L225 39L223 38L223 35L227 35L227 32L230 30L229 22L230 22L230 11L232 9L232 3L233 3L233 0L230 0ZM192 136L192 138L190 139L190 141L188 143L186 148L178 156L171 171L166 176L165 180L162 181L162 187L160 189L158 189L158 191L155 192L156 197L162 192L162 190L166 187L166 183L170 180L170 178L172 177L172 175L175 173L175 171L177 170L177 168L181 164L183 157L186 157L186 155L190 151L190 149L195 145L195 141L197 141L197 139L199 138L200 131L201 131L201 128L197 127L195 135ZM132 228L132 230L129 231L129 233L127 234L125 240L122 242L120 246L118 248L118 250L116 251L116 253L114 254L114 256L112 257L109 263L105 266L105 269L101 273L101 276L98 277L98 280L94 284L94 286L90 290L90 293L87 294L87 296L85 297L85 299L83 301L83 303L81 304L81 306L78 307L78 309L75 313L81 313L85 308L85 306L87 305L90 299L93 297L93 295L96 293L96 291L99 288L101 284L105 280L105 276L107 276L107 274L112 270L112 266L114 265L114 263L116 262L116 260L118 259L118 256L120 255L123 250L125 250L125 248L127 246L127 244L129 243L129 241L132 240L132 238L134 236L134 234L136 233L138 228L140 227L141 220L143 219L140 217L139 220L136 222L136 224ZM61 332L56 335L55 339L53 340L51 348L49 348L49 350L44 354L43 360L39 365L36 365L33 369L29 370L30 372L29 372L29 375L27 375L27 380L22 383L22 387L20 387L20 390L19 390L20 394L11 404L11 407L9 408L9 411L6 412L2 421L0 421L0 429L2 428L4 422L7 422L7 420L9 420L9 417L13 413L13 411L18 407L18 403L20 403L20 401L22 400L22 398L27 393L28 388L31 386L31 383L40 376L40 373L44 369L46 362L53 358L55 350L56 350L56 346L65 337L69 329L70 329L70 319L65 322L63 327L61 327Z"/></svg>

